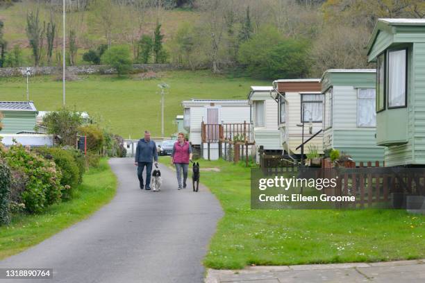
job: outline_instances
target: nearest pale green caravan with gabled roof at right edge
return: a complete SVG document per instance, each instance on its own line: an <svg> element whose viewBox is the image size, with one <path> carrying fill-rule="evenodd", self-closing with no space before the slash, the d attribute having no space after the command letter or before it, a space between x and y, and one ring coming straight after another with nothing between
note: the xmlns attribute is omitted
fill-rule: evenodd
<svg viewBox="0 0 425 283"><path fill-rule="evenodd" d="M425 164L425 19L378 19L367 44L376 62L376 144L385 166Z"/></svg>

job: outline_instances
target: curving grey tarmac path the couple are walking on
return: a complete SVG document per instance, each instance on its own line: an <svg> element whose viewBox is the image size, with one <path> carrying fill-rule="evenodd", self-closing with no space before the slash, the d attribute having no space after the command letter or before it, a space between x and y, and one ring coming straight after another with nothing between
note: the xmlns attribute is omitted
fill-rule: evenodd
<svg viewBox="0 0 425 283"><path fill-rule="evenodd" d="M160 192L142 191L131 158L110 160L117 196L85 221L0 261L0 268L53 268L53 280L0 282L203 282L201 264L217 220L218 200L205 187L177 190L160 165Z"/></svg>

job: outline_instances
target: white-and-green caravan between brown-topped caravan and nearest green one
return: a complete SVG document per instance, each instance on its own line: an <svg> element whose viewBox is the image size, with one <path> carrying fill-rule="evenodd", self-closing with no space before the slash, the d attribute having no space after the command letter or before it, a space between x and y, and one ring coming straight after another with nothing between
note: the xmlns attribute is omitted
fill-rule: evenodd
<svg viewBox="0 0 425 283"><path fill-rule="evenodd" d="M322 76L323 148L359 162L383 162L376 145L375 69L329 69Z"/></svg>

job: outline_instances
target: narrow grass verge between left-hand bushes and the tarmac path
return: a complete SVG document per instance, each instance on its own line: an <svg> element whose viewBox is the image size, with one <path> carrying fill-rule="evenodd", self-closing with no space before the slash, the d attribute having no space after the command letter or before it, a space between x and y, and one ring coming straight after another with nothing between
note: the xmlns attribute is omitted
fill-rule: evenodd
<svg viewBox="0 0 425 283"><path fill-rule="evenodd" d="M85 173L75 198L52 205L42 214L15 216L10 225L0 227L0 259L26 250L88 217L115 196L116 188L117 180L108 160L102 159L99 168Z"/></svg>

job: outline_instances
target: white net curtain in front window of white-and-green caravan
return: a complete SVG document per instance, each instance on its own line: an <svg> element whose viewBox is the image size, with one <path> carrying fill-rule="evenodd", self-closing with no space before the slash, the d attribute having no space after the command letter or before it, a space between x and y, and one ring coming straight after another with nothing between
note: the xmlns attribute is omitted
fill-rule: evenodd
<svg viewBox="0 0 425 283"><path fill-rule="evenodd" d="M357 126L376 127L375 89L358 89Z"/></svg>

